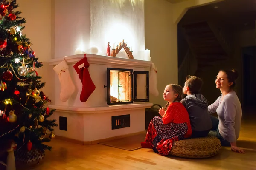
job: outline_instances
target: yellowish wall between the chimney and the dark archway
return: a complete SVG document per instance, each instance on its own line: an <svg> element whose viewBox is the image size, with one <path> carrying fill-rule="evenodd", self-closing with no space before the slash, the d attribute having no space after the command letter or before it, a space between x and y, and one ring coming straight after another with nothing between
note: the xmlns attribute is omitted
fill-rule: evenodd
<svg viewBox="0 0 256 170"><path fill-rule="evenodd" d="M145 47L151 50L151 61L157 67L159 96L150 102L164 106L163 90L178 83L177 25L172 21L174 5L166 0L145 0Z"/></svg>

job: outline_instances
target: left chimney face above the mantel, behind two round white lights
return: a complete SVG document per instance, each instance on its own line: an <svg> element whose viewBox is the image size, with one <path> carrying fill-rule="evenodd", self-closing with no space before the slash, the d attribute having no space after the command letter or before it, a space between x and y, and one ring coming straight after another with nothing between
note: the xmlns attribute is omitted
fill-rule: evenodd
<svg viewBox="0 0 256 170"><path fill-rule="evenodd" d="M74 55L90 47L90 0L55 1L55 52L53 58Z"/></svg>

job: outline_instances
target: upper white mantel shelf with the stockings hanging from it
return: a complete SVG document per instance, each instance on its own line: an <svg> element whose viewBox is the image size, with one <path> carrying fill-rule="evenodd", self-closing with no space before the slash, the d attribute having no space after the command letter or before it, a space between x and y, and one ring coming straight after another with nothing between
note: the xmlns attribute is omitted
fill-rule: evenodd
<svg viewBox="0 0 256 170"><path fill-rule="evenodd" d="M51 59L48 63L49 65L57 65L61 61L66 60L67 64L75 64L82 58L84 58L84 54L78 54L78 55L67 56L64 58L61 57L61 58ZM102 55L96 55L96 54L86 54L86 58L89 64L123 65L123 66L133 66L133 67L140 67L140 68L150 67L152 64L151 61L102 56Z"/></svg>

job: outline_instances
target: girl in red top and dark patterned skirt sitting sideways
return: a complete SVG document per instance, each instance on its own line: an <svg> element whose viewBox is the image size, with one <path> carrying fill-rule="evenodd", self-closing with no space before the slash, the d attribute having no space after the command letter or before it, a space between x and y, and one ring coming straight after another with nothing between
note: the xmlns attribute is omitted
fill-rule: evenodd
<svg viewBox="0 0 256 170"><path fill-rule="evenodd" d="M162 118L156 116L151 120L145 142L141 142L143 148L153 148L160 155L168 155L174 141L191 136L189 114L180 103L182 91L180 85L166 86L163 99L168 103L159 110Z"/></svg>

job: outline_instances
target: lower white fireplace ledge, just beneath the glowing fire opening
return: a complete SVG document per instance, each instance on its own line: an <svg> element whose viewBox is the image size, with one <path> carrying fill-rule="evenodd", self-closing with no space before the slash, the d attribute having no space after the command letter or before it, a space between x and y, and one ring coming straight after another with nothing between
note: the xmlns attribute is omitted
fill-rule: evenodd
<svg viewBox="0 0 256 170"><path fill-rule="evenodd" d="M150 108L152 103L133 103L133 104L125 104L125 105L108 105L101 107L72 107L72 106L61 106L61 105L49 105L50 109L56 109L56 111L60 112L72 112L79 114L92 114L92 113L105 113L106 111L130 111L137 109L145 109Z"/></svg>

